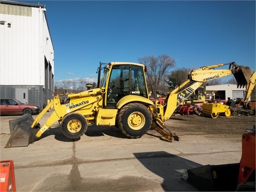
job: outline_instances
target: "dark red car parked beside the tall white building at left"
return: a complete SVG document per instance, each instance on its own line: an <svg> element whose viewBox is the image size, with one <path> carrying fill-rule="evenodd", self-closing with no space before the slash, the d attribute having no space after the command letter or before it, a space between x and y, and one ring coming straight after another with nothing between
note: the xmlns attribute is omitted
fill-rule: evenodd
<svg viewBox="0 0 256 192"><path fill-rule="evenodd" d="M13 114L38 114L40 108L34 105L24 104L17 99L1 99L0 101L0 114L13 115Z"/></svg>

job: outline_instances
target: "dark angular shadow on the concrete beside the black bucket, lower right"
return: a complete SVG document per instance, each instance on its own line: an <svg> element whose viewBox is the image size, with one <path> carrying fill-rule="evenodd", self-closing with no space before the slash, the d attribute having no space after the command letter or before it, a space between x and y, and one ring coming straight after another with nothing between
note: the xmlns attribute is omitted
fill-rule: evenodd
<svg viewBox="0 0 256 192"><path fill-rule="evenodd" d="M182 178L183 171L201 164L172 155L165 151L134 153L134 156L149 171L163 178L161 183L164 191L198 191Z"/></svg>

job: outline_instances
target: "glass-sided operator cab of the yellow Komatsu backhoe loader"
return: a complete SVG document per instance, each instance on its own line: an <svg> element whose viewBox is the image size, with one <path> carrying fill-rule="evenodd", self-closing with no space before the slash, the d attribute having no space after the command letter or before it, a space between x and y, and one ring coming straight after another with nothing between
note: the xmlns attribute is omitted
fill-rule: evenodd
<svg viewBox="0 0 256 192"><path fill-rule="evenodd" d="M104 68L101 85L102 87L108 87L108 89L106 88L107 106L116 106L116 103L127 95L140 95L148 98L145 67L143 65L111 62Z"/></svg>

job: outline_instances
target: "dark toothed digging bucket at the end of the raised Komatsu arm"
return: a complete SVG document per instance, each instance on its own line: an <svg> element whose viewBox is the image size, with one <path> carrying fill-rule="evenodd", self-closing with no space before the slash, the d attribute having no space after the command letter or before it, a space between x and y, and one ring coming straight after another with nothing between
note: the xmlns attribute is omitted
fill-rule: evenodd
<svg viewBox="0 0 256 192"><path fill-rule="evenodd" d="M233 74L237 81L237 88L244 87L249 83L251 78L251 68L239 66Z"/></svg>

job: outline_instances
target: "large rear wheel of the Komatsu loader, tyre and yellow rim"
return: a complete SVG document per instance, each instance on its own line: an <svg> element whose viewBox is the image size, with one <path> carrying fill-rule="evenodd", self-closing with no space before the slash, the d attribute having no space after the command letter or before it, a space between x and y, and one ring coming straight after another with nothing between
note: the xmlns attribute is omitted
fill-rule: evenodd
<svg viewBox="0 0 256 192"><path fill-rule="evenodd" d="M140 138L146 134L152 124L152 114L141 103L129 103L118 115L118 127L130 138Z"/></svg>

